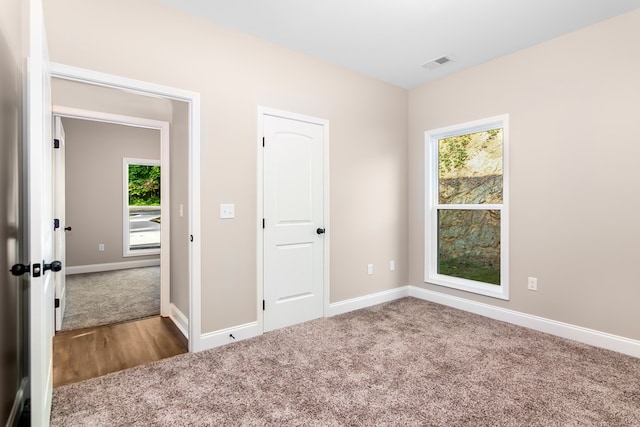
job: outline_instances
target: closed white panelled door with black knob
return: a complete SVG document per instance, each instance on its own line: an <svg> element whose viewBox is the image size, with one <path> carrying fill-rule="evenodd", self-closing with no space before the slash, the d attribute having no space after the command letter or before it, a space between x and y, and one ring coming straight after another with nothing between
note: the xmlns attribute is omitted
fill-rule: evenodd
<svg viewBox="0 0 640 427"><path fill-rule="evenodd" d="M263 116L264 330L323 316L324 126Z"/></svg>

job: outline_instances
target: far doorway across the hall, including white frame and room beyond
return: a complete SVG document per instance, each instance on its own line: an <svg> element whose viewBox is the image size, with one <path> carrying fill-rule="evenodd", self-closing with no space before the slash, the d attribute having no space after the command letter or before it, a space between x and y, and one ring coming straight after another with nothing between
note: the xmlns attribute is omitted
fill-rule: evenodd
<svg viewBox="0 0 640 427"><path fill-rule="evenodd" d="M56 330L170 316L169 123L61 106L53 113L64 135L54 165L64 229L56 256L66 260Z"/></svg>

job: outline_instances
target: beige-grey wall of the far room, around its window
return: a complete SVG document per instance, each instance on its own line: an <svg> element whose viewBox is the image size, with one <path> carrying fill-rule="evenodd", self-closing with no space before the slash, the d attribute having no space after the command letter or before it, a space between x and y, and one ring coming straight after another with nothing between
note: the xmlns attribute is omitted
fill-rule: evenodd
<svg viewBox="0 0 640 427"><path fill-rule="evenodd" d="M152 256L122 256L124 157L160 160L160 132L63 118L66 137L67 266L107 264ZM98 244L105 245L98 252Z"/></svg>

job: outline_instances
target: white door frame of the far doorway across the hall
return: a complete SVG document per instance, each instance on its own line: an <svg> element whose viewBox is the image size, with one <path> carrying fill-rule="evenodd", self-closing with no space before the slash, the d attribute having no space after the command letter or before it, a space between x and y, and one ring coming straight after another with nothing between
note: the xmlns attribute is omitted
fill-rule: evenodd
<svg viewBox="0 0 640 427"><path fill-rule="evenodd" d="M160 132L160 170L162 171L160 175L160 215L163 219L163 225L160 228L160 315L163 317L169 316L171 312L171 141L169 134L169 122L111 114L101 111L83 110L61 105L53 105L51 110L54 118L62 117L68 119L87 120L121 126L153 129Z"/></svg>

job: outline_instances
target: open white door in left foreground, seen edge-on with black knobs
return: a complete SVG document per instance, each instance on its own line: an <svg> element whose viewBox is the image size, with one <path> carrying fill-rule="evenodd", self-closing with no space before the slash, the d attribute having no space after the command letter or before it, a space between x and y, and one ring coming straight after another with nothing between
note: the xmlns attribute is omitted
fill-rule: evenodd
<svg viewBox="0 0 640 427"><path fill-rule="evenodd" d="M31 423L49 425L53 384L52 343L54 283L51 77L40 0L25 3L28 13L27 58L27 201L29 260L29 376Z"/></svg>

